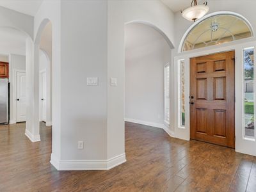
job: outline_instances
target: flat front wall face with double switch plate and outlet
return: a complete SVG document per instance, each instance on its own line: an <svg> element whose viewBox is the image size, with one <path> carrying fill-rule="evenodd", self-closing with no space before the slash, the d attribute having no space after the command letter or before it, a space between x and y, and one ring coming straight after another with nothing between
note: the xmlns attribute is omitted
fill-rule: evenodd
<svg viewBox="0 0 256 192"><path fill-rule="evenodd" d="M98 77L98 86L87 86L87 77ZM106 125L107 1L63 1L61 159L106 159Z"/></svg>

